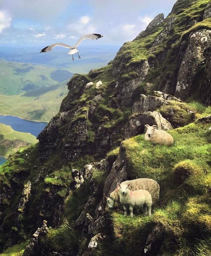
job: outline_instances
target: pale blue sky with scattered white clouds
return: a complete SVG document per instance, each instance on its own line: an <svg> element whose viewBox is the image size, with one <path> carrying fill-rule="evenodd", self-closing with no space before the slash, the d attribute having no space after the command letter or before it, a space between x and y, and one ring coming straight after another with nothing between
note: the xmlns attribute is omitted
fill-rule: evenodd
<svg viewBox="0 0 211 256"><path fill-rule="evenodd" d="M73 45L99 33L98 45L133 40L158 14L166 17L176 0L0 0L0 46ZM83 45L93 45L85 40Z"/></svg>

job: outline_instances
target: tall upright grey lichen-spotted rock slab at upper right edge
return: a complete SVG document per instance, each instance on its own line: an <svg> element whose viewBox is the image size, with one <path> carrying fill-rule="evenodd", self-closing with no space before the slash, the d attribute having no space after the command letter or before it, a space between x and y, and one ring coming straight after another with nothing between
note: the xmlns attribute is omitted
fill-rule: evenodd
<svg viewBox="0 0 211 256"><path fill-rule="evenodd" d="M194 86L196 75L206 61L206 50L211 47L211 30L201 29L191 33L187 49L180 64L174 96L187 99Z"/></svg>

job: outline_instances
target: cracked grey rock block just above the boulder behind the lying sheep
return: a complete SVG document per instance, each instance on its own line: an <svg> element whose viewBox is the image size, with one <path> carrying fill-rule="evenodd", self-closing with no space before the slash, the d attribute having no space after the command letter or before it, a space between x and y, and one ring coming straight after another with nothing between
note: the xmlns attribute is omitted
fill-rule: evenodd
<svg viewBox="0 0 211 256"><path fill-rule="evenodd" d="M168 105L166 99L151 95L147 97L146 95L141 94L140 100L133 104L133 113L154 111L165 105Z"/></svg>

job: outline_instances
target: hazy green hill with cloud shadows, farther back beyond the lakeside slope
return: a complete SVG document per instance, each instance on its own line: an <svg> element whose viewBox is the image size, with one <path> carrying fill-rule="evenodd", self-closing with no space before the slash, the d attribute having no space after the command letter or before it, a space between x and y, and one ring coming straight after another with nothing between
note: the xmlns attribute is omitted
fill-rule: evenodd
<svg viewBox="0 0 211 256"><path fill-rule="evenodd" d="M0 94L18 95L51 87L73 76L67 70L0 59Z"/></svg>

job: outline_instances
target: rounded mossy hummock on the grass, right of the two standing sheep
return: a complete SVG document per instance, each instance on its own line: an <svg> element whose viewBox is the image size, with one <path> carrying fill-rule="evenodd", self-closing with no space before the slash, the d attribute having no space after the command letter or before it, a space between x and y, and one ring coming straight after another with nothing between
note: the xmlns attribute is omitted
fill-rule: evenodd
<svg viewBox="0 0 211 256"><path fill-rule="evenodd" d="M202 168L194 161L189 159L180 161L173 169L174 183L182 184L188 177L202 173Z"/></svg>

